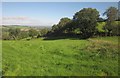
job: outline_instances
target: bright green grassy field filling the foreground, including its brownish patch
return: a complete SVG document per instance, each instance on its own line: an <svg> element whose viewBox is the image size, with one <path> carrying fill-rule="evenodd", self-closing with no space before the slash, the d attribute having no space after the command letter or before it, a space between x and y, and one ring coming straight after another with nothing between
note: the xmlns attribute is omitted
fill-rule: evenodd
<svg viewBox="0 0 120 78"><path fill-rule="evenodd" d="M4 76L117 76L117 37L2 41Z"/></svg>

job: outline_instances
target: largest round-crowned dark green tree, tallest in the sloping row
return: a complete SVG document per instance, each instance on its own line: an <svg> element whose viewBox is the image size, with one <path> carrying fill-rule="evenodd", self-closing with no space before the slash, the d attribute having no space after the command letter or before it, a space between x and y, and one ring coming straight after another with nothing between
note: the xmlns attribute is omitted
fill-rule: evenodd
<svg viewBox="0 0 120 78"><path fill-rule="evenodd" d="M98 18L99 12L92 8L83 8L75 13L73 20L76 21L82 38L89 38L94 35Z"/></svg>

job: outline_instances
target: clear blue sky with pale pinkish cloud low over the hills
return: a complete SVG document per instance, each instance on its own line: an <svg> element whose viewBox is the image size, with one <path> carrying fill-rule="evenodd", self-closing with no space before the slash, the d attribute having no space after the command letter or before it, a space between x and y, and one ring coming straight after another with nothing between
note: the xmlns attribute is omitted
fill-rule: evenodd
<svg viewBox="0 0 120 78"><path fill-rule="evenodd" d="M3 25L52 26L63 17L72 19L83 8L96 8L101 17L117 2L2 2Z"/></svg>

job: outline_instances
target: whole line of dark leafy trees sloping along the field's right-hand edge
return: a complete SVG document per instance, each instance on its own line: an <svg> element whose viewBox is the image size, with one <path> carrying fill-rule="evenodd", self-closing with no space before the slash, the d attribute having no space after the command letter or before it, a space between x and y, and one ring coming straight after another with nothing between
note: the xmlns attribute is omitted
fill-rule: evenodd
<svg viewBox="0 0 120 78"><path fill-rule="evenodd" d="M60 19L57 25L47 36L79 36L79 38L90 38L93 36L118 36L120 28L118 9L109 7L103 15L107 19L99 17L99 12L93 8L83 8L76 12L73 19L67 17ZM104 25L102 24L104 22ZM98 25L101 24L101 29ZM101 31L102 30L102 31Z"/></svg>

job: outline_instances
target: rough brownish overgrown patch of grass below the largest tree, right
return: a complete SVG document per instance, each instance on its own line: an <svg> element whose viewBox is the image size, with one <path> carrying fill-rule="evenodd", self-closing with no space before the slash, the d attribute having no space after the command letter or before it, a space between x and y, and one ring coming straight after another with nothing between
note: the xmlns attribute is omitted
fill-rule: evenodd
<svg viewBox="0 0 120 78"><path fill-rule="evenodd" d="M95 56L118 58L118 43L92 39L88 39L88 41L90 44L86 50L95 53Z"/></svg>

